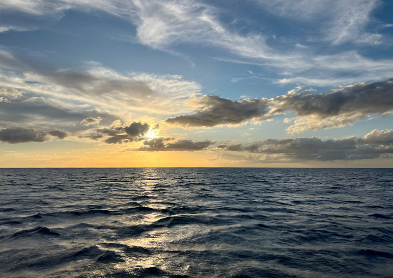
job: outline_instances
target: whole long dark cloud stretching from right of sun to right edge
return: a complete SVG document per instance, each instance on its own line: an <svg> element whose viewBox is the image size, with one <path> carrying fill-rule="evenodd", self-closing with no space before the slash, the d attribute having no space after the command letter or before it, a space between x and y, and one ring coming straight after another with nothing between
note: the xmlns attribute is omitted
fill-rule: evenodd
<svg viewBox="0 0 393 278"><path fill-rule="evenodd" d="M357 83L327 93L311 94L314 91L239 101L204 95L186 102L195 108L194 114L169 117L165 122L186 128L214 127L241 124L248 120L261 122L291 111L297 117L288 131L299 133L343 127L367 115L393 113L393 79Z"/></svg>

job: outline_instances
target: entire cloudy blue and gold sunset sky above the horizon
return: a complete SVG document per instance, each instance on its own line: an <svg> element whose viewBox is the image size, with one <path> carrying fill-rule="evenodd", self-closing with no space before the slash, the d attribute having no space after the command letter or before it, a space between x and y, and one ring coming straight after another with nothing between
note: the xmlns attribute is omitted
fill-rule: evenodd
<svg viewBox="0 0 393 278"><path fill-rule="evenodd" d="M0 167L393 167L392 14L1 0Z"/></svg>

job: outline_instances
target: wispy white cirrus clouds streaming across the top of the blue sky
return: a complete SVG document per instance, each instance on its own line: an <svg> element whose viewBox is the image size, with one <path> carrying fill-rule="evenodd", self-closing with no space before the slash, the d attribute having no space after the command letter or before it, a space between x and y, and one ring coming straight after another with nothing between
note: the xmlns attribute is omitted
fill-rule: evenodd
<svg viewBox="0 0 393 278"><path fill-rule="evenodd" d="M265 28L267 31L264 29L266 33L262 33L260 27L253 28L251 25L250 32L242 33L233 23L223 20L222 9L198 0L26 0L23 4L19 0L5 0L2 9L18 10L37 17L62 14L70 9L104 11L134 25L137 40L150 48L185 56L173 47L181 44L215 47L224 50L223 55L228 56L218 59L257 64L285 75L284 78L271 79L272 82L338 85L343 84L342 81L380 80L393 75L391 59L370 59L355 49L331 48L344 43L381 43L382 35L368 28L373 22L373 11L380 6L379 0L256 2L275 15L306 22L308 33L320 35L300 37L292 44L283 40L277 47L277 41L275 44L269 41L271 34L267 33L268 28ZM300 39L303 44L307 43L307 39L311 42L299 48L296 45L299 45ZM321 49L326 48L329 48L329 53L321 54ZM342 78L349 74L350 78Z"/></svg>

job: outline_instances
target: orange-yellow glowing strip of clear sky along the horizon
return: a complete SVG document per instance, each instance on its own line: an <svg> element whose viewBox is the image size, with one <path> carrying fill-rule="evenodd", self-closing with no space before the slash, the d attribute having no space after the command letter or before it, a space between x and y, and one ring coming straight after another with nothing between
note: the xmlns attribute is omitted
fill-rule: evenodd
<svg viewBox="0 0 393 278"><path fill-rule="evenodd" d="M0 167L391 167L389 160L250 163L246 161L215 160L214 151L132 151L113 146L76 149L26 149L3 151Z"/></svg>

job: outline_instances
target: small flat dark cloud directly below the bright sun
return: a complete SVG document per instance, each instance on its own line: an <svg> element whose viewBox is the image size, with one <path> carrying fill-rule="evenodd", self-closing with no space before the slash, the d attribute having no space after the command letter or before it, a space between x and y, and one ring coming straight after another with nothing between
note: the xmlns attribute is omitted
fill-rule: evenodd
<svg viewBox="0 0 393 278"><path fill-rule="evenodd" d="M173 138L160 137L145 140L140 151L201 151L214 143L210 140L194 142L192 140L174 140Z"/></svg>

